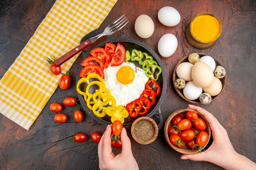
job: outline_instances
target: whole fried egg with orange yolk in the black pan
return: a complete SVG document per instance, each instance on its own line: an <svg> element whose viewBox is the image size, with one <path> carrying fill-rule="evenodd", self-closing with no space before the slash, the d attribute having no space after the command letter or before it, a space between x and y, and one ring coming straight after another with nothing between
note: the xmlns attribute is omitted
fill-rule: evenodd
<svg viewBox="0 0 256 170"><path fill-rule="evenodd" d="M120 66L108 66L104 71L106 88L115 97L117 106L138 99L148 81L146 72L131 62L124 62Z"/></svg>

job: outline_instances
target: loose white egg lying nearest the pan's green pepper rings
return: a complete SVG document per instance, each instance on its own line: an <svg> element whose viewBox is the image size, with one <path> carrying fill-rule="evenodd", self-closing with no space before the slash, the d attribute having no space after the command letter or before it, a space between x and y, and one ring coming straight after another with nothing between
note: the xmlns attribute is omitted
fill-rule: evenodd
<svg viewBox="0 0 256 170"><path fill-rule="evenodd" d="M173 34L164 34L157 45L159 54L162 57L170 57L176 51L178 40Z"/></svg>

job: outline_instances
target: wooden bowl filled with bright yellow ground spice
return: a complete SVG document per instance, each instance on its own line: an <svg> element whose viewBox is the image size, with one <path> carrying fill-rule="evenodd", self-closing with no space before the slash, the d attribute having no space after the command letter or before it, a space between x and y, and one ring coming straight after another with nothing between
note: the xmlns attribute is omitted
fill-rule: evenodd
<svg viewBox="0 0 256 170"><path fill-rule="evenodd" d="M213 13L196 15L186 26L186 39L197 49L207 49L215 44L222 32L222 24Z"/></svg>

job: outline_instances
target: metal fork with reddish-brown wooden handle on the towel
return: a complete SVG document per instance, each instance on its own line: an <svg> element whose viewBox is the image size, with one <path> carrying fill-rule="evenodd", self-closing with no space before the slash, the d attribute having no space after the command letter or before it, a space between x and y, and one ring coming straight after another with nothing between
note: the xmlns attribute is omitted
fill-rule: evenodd
<svg viewBox="0 0 256 170"><path fill-rule="evenodd" d="M67 52L63 56L59 57L57 60L54 61L56 66L60 66L70 58L74 57L77 53L85 49L87 46L95 42L97 39L104 35L112 35L113 33L116 33L120 29L122 29L129 21L127 21L126 16L122 15L120 18L112 22L109 26L106 27L106 29L103 31L103 33L100 33L92 38L89 38L88 40L85 40L82 42L79 46L76 46L71 51Z"/></svg>

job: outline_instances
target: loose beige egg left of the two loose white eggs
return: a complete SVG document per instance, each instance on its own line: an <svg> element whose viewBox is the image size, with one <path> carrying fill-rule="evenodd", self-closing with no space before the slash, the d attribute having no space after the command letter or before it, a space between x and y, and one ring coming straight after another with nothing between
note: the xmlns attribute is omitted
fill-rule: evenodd
<svg viewBox="0 0 256 170"><path fill-rule="evenodd" d="M135 31L141 38L149 38L155 29L153 20L148 15L139 15L135 21Z"/></svg>

